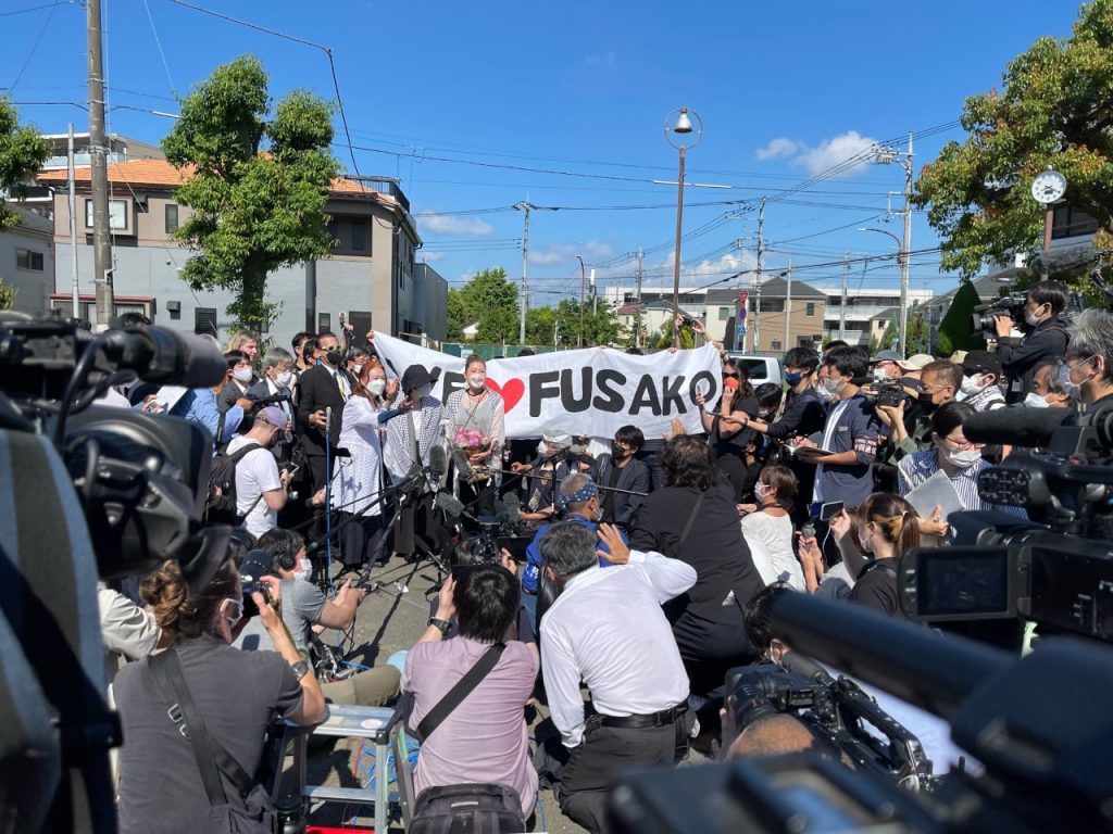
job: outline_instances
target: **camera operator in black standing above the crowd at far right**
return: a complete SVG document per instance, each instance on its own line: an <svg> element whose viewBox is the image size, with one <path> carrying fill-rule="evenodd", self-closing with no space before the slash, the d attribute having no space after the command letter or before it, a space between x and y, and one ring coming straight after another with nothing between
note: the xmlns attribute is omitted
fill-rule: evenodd
<svg viewBox="0 0 1113 834"><path fill-rule="evenodd" d="M1060 316L1068 301L1066 286L1060 281L1038 281L1028 290L1024 305L1024 324L1031 329L1017 340L1009 336L1013 319L994 317L997 328L997 356L1008 379L1008 401L1020 403L1032 390L1032 373L1041 359L1066 353L1070 336ZM992 346L991 346L992 347Z"/></svg>

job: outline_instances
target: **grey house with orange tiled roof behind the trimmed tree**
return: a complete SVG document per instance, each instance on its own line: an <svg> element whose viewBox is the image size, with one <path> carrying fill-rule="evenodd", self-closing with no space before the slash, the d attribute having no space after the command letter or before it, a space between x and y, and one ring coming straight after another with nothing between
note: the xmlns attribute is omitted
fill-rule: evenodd
<svg viewBox="0 0 1113 834"><path fill-rule="evenodd" d="M111 190L109 219L116 314L136 309L156 324L207 332L224 341L232 321L225 308L226 290L194 291L180 278L190 254L171 238L189 217L175 201L183 173L164 159L129 159L108 165ZM75 172L77 189L77 252L81 317L92 320L92 199L89 168ZM43 170L40 185L55 189L52 198L55 258L70 257L68 173ZM267 298L279 305L268 336L288 345L295 332L338 329L341 316L356 334L374 328L420 339L426 316L444 309L447 286L435 272L416 277L414 254L421 246L410 202L394 180L352 178L334 180L325 210L332 216L335 245L329 257L274 271L267 278ZM72 307L68 269L55 270L50 305ZM434 277L435 276L435 277ZM443 317L439 320L443 329Z"/></svg>

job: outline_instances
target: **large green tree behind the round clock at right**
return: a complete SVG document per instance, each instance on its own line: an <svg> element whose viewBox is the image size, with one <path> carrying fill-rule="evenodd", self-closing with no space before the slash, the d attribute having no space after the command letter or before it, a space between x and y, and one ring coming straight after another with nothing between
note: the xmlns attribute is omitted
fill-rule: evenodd
<svg viewBox="0 0 1113 834"><path fill-rule="evenodd" d="M1071 38L1041 38L1013 60L1004 89L966 99L965 142L924 168L913 202L928 207L943 270L976 275L987 259L1034 250L1044 208L1031 193L1047 167L1066 176L1065 199L1113 221L1113 0L1084 4Z"/></svg>

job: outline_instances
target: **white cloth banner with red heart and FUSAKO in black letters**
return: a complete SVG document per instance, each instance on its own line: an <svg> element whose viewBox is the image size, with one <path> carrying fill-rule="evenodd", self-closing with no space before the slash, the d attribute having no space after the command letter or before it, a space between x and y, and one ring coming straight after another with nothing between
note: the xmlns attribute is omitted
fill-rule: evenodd
<svg viewBox="0 0 1113 834"><path fill-rule="evenodd" d="M387 377L411 365L441 369L433 396L441 401L464 386L464 359L375 334L375 349ZM647 438L671 431L680 419L702 431L696 408L701 388L708 403L719 396L722 364L710 345L674 354L631 356L612 348L561 350L486 365L487 385L506 404L506 437L540 437L543 427L571 435L613 437L622 426L638 426Z"/></svg>

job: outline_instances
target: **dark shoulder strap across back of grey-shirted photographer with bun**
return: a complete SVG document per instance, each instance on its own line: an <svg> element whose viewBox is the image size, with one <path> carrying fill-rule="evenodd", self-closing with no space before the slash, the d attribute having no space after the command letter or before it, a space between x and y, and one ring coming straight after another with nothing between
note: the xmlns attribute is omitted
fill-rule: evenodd
<svg viewBox="0 0 1113 834"><path fill-rule="evenodd" d="M209 735L205 722L194 705L194 698L189 694L177 649L171 646L165 652L151 655L147 658L147 668L150 669L151 677L155 678L155 684L162 698L170 705L166 714L178 726L178 732L186 737L194 749L194 758L200 770L209 805L216 807L229 804L224 782L220 778L221 773L236 788L239 798L243 800L252 790L252 777L247 775L233 755Z"/></svg>

